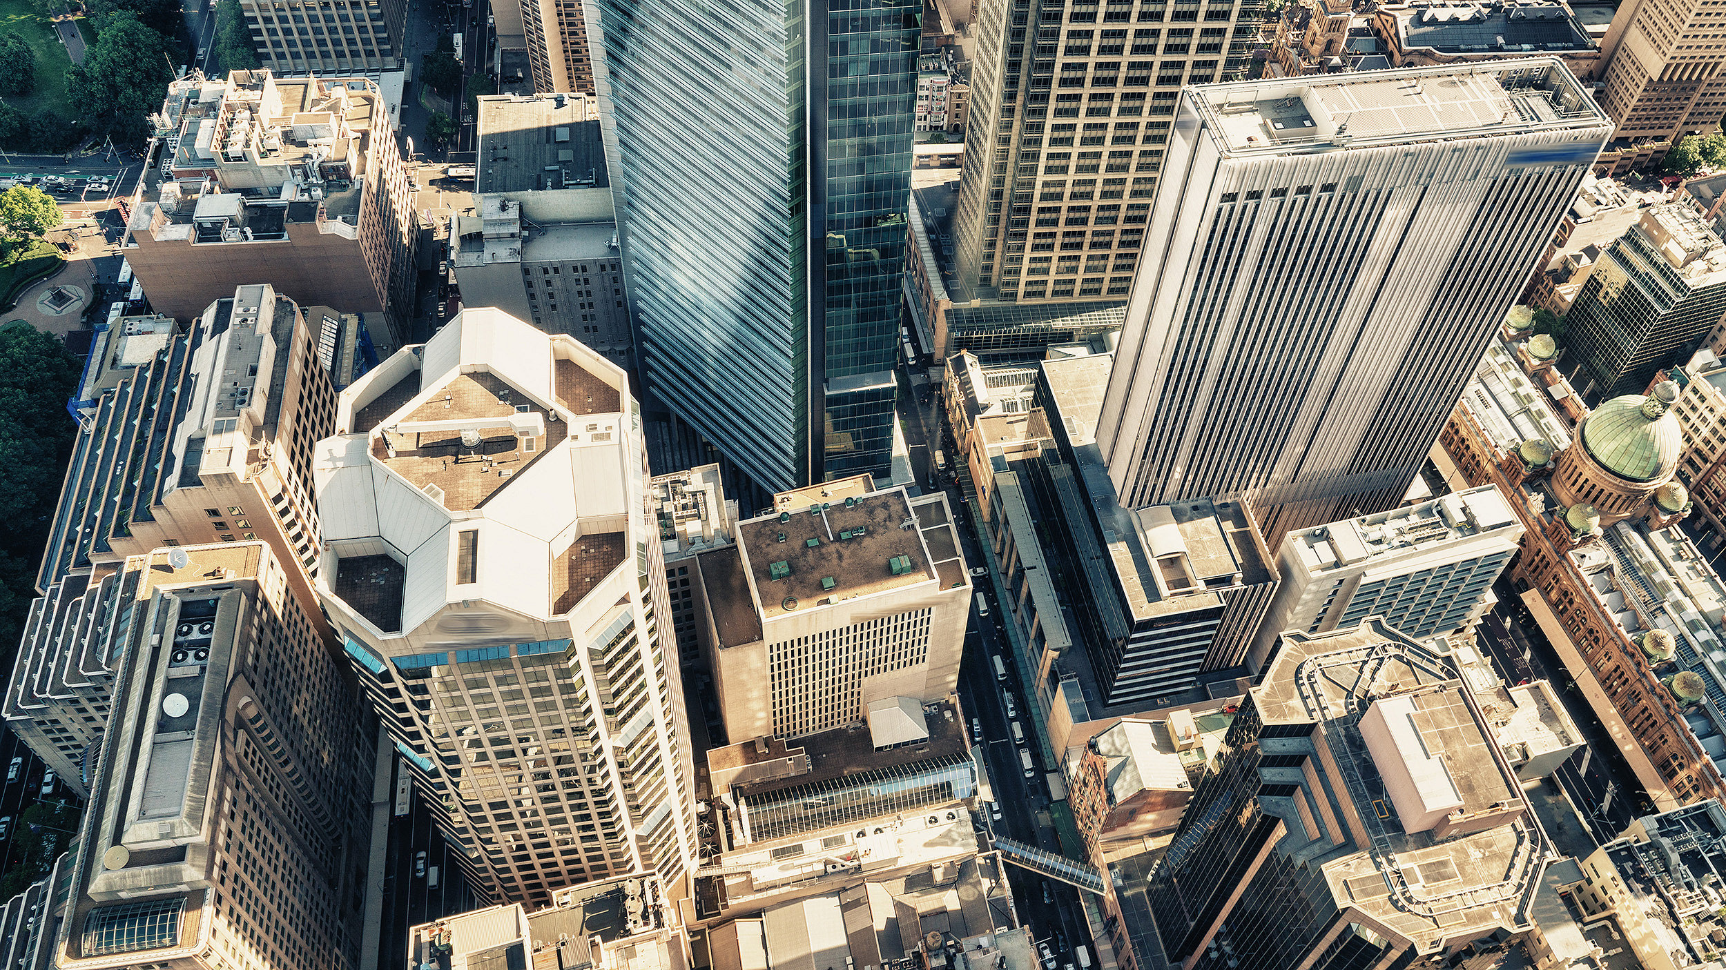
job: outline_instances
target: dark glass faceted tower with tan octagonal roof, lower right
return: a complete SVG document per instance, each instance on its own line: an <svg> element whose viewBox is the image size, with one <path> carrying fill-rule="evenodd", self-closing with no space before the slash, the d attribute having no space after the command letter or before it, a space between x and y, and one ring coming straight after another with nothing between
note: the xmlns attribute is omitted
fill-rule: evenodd
<svg viewBox="0 0 1726 970"><path fill-rule="evenodd" d="M1389 627L1284 635L1151 872L1163 956L1408 967L1528 929L1553 851L1498 746L1450 661Z"/></svg>

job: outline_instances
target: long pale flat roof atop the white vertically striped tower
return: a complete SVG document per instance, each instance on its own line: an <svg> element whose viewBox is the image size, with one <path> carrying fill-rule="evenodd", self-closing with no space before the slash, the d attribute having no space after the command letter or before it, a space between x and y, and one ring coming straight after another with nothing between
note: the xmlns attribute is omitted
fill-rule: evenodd
<svg viewBox="0 0 1726 970"><path fill-rule="evenodd" d="M1225 154L1612 124L1552 57L1203 85L1181 110L1198 110Z"/></svg>

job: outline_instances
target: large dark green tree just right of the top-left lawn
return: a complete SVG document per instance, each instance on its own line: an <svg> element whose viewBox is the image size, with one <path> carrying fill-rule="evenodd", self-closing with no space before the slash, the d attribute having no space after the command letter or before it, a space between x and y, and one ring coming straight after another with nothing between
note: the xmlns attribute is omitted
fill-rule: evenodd
<svg viewBox="0 0 1726 970"><path fill-rule="evenodd" d="M109 14L83 64L66 72L71 102L98 131L117 142L142 142L145 116L162 104L162 88L173 81L162 47L162 35L131 10Z"/></svg>

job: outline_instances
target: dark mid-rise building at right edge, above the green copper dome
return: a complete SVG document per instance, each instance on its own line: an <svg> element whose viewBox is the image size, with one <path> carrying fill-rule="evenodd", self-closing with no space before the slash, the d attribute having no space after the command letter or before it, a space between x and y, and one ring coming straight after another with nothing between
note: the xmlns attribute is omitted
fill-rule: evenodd
<svg viewBox="0 0 1726 970"><path fill-rule="evenodd" d="M1565 316L1560 366L1590 400L1641 394L1685 362L1726 312L1726 245L1686 202L1647 209Z"/></svg>

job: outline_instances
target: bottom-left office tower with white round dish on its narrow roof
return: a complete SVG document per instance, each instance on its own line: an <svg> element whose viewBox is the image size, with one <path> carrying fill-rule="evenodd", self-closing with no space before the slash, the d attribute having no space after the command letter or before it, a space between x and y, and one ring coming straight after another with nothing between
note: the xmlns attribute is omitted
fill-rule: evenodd
<svg viewBox="0 0 1726 970"><path fill-rule="evenodd" d="M262 542L126 563L55 967L359 965L376 725Z"/></svg>

